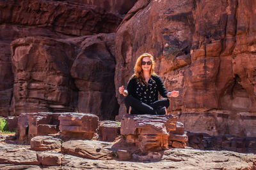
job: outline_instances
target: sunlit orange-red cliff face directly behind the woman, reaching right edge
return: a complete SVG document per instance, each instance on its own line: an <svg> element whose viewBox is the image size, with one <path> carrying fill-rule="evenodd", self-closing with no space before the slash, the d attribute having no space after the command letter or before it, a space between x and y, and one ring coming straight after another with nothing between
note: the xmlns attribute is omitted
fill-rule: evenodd
<svg viewBox="0 0 256 170"><path fill-rule="evenodd" d="M149 52L166 88L180 91L169 111L186 130L255 136L255 9L253 0L137 1L116 32L120 117L117 87Z"/></svg>

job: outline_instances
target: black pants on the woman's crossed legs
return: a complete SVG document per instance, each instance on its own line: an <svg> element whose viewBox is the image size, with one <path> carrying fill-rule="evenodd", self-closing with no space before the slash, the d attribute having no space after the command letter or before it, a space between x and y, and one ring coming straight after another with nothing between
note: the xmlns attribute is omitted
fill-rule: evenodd
<svg viewBox="0 0 256 170"><path fill-rule="evenodd" d="M169 99L160 99L155 101L152 104L146 104L132 96L126 96L124 99L125 106L127 108L127 113L129 111L129 107L132 107L131 114L134 115L143 115L143 114L150 114L156 115L156 110L163 108L164 106L166 109L170 106Z"/></svg>

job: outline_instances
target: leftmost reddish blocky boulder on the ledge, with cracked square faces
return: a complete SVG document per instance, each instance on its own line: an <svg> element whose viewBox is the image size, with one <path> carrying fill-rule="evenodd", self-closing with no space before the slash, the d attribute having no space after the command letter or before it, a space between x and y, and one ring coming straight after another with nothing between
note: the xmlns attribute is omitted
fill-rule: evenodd
<svg viewBox="0 0 256 170"><path fill-rule="evenodd" d="M30 139L35 136L55 134L59 131L60 113L22 113L19 116L15 136L19 143L29 144Z"/></svg>

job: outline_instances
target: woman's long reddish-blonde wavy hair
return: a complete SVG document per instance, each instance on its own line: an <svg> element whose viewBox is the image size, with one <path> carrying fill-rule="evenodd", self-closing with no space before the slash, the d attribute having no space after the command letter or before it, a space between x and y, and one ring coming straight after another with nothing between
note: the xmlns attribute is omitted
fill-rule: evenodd
<svg viewBox="0 0 256 170"><path fill-rule="evenodd" d="M154 67L155 67L154 57L150 53L143 53L142 55L140 55L140 57L138 57L136 61L136 64L134 66L134 74L132 74L131 78L136 77L138 81L140 81L140 83L144 82L145 84L147 84L143 75L142 67L141 67L141 62L144 57L149 57L149 59L152 62L151 68L150 68L150 76L156 75L154 71Z"/></svg>

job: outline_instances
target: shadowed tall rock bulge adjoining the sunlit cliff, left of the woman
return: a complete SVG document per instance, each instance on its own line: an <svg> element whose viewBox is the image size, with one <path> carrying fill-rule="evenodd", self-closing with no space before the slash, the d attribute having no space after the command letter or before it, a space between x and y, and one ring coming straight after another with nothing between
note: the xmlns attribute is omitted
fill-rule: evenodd
<svg viewBox="0 0 256 170"><path fill-rule="evenodd" d="M115 93L115 34L70 39L79 46L70 74L78 92L77 110L113 120L118 114Z"/></svg>

